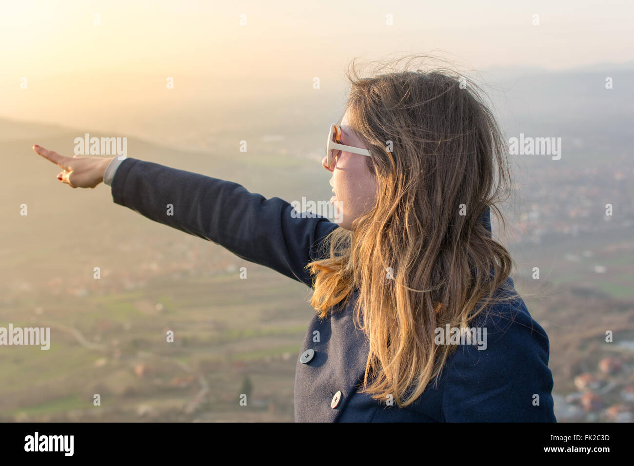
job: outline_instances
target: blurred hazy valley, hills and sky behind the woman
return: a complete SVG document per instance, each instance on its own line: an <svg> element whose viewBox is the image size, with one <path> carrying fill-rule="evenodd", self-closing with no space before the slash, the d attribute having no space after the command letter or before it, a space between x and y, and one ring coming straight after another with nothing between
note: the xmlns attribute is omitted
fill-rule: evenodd
<svg viewBox="0 0 634 466"><path fill-rule="evenodd" d="M0 420L292 421L313 315L305 285L113 204L109 186L62 185L32 145L72 155L85 133L126 137L128 157L288 202L327 200L320 161L346 102L346 63L442 48L469 60L465 74L484 84L507 139L562 138L560 160L511 157L515 198L503 206L507 229L494 218L494 233L550 338L557 419L631 422L631 4L566 13L494 2L489 15L459 4L458 16L434 6L430 25L429 11L409 2L332 16L311 3L244 3L243 27L240 7L195 2L12 6L0 19L0 327L51 327L51 349L0 347Z"/></svg>

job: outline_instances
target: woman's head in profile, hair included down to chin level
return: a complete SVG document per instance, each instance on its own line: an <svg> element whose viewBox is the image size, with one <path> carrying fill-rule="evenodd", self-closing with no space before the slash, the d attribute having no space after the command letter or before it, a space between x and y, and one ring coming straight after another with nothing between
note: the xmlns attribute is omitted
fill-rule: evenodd
<svg viewBox="0 0 634 466"><path fill-rule="evenodd" d="M446 71L359 78L353 68L348 79L341 142L372 157L344 151L337 159L330 184L340 226L351 230L372 209L370 217L414 209L411 220L473 226L500 202L508 188L503 139L475 84Z"/></svg>

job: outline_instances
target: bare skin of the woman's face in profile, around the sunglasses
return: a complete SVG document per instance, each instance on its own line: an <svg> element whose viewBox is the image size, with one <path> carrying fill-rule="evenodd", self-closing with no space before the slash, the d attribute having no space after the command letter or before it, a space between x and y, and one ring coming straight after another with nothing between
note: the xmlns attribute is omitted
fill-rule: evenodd
<svg viewBox="0 0 634 466"><path fill-rule="evenodd" d="M367 149L348 126L348 113L341 120L341 143ZM330 202L339 209L339 226L351 230L354 219L374 207L377 200L377 179L368 170L367 157L351 152L341 152L332 172L330 186L333 197ZM321 164L326 168L326 158Z"/></svg>

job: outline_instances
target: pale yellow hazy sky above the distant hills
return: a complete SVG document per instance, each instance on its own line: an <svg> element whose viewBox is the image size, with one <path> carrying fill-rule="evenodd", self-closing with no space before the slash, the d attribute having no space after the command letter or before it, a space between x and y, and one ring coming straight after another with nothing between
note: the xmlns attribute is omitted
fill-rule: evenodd
<svg viewBox="0 0 634 466"><path fill-rule="evenodd" d="M316 76L342 87L353 56L448 53L476 69L621 63L634 59L633 11L583 0L3 2L0 117L115 129L173 105L308 90Z"/></svg>

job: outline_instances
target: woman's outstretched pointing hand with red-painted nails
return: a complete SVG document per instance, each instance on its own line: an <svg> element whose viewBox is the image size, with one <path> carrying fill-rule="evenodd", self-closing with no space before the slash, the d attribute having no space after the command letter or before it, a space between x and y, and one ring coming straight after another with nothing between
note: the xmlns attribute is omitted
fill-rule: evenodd
<svg viewBox="0 0 634 466"><path fill-rule="evenodd" d="M83 155L64 157L38 145L33 146L33 150L60 167L62 171L58 173L57 179L72 188L97 186L103 181L103 174L110 161L114 159L114 157L84 157Z"/></svg>

